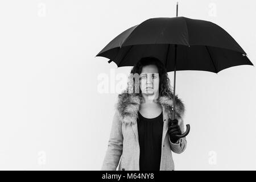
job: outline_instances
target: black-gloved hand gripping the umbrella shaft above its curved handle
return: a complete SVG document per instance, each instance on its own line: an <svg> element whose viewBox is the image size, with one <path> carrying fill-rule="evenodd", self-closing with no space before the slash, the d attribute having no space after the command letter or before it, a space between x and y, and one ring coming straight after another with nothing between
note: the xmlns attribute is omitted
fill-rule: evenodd
<svg viewBox="0 0 256 182"><path fill-rule="evenodd" d="M181 134L180 126L178 125L177 119L170 119L168 120L168 134L170 137L170 140L172 143L176 143L179 137L176 137L175 135Z"/></svg>

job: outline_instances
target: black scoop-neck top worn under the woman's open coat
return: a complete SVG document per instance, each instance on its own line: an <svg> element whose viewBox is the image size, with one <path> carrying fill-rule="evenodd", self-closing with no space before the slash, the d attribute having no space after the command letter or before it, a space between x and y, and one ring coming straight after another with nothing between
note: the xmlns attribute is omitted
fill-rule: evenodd
<svg viewBox="0 0 256 182"><path fill-rule="evenodd" d="M138 111L139 170L159 171L162 151L163 111L155 118L144 118Z"/></svg>

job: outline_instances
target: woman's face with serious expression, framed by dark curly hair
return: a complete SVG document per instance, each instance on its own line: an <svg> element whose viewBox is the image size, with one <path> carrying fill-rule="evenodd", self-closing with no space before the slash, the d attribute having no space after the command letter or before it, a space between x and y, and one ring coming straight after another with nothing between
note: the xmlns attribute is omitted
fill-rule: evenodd
<svg viewBox="0 0 256 182"><path fill-rule="evenodd" d="M139 86L142 93L147 95L158 94L159 92L159 73L156 65L146 65L142 68L139 75Z"/></svg>

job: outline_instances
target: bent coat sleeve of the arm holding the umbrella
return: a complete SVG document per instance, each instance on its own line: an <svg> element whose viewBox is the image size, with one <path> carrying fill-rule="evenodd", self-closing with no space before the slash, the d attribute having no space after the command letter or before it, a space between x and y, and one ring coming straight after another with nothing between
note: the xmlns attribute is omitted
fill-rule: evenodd
<svg viewBox="0 0 256 182"><path fill-rule="evenodd" d="M180 130L181 130L181 133L184 133L184 123L183 123L183 118L178 118L178 121L179 121L179 126L180 126ZM187 140L185 137L183 138L180 138L179 140L177 140L176 143L172 143L170 138L169 138L169 142L170 142L170 145L171 145L171 150L177 154L180 154L182 153L186 146L187 146Z"/></svg>

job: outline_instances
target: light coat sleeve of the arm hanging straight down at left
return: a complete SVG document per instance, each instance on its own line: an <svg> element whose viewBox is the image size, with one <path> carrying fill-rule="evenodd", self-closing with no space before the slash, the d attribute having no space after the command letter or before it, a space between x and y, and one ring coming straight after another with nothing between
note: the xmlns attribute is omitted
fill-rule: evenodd
<svg viewBox="0 0 256 182"><path fill-rule="evenodd" d="M108 149L106 150L104 162L101 171L115 171L117 169L119 160L123 150L123 134L122 122L119 120L118 113L115 111L112 129L108 142Z"/></svg>

